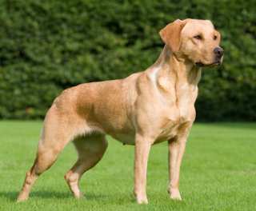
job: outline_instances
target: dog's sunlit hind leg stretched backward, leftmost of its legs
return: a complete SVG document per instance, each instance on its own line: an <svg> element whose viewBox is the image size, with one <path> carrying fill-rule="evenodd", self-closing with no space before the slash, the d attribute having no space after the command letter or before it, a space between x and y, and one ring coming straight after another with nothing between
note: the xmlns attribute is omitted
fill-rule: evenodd
<svg viewBox="0 0 256 211"><path fill-rule="evenodd" d="M52 108L47 113L42 137L38 144L37 157L34 165L26 173L26 179L18 195L18 201L25 201L29 197L30 189L38 176L54 164L58 154L74 137L77 131L78 125L70 124L70 121L63 119L57 114L56 110Z"/></svg>

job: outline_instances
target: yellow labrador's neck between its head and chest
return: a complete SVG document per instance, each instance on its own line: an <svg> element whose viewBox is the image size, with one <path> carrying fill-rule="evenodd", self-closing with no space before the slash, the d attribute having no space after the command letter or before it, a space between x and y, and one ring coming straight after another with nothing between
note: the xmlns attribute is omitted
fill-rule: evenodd
<svg viewBox="0 0 256 211"><path fill-rule="evenodd" d="M160 89L168 91L170 85L187 85L191 88L197 88L201 78L201 70L194 66L186 57L179 56L171 52L168 46L165 46L158 60L148 70L152 78Z"/></svg>

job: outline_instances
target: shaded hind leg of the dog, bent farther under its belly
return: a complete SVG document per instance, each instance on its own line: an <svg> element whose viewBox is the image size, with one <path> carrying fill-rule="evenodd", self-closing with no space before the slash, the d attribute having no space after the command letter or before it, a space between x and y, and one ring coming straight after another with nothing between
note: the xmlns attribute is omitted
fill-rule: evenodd
<svg viewBox="0 0 256 211"><path fill-rule="evenodd" d="M78 151L78 161L66 173L65 179L74 197L82 197L79 189L79 180L82 174L94 167L102 159L107 148L107 141L103 134L90 134L86 137L78 137L74 140Z"/></svg>

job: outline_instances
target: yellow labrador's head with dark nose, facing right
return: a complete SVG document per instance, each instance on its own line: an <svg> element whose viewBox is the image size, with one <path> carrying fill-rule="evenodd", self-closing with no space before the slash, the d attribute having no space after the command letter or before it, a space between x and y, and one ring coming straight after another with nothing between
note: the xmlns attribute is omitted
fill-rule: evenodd
<svg viewBox="0 0 256 211"><path fill-rule="evenodd" d="M159 34L174 54L189 59L196 66L222 63L221 34L208 20L176 20L160 30Z"/></svg>

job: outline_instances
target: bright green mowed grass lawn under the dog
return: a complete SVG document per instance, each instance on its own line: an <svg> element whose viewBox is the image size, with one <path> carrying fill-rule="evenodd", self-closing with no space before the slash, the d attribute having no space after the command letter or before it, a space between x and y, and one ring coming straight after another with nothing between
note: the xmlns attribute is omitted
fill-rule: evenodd
<svg viewBox="0 0 256 211"><path fill-rule="evenodd" d="M0 121L0 210L256 210L256 124L195 124L182 162L183 201L171 201L167 187L167 144L154 145L148 166L149 205L133 197L134 147L108 137L102 161L85 173L75 200L64 174L76 161L67 145L38 179L30 199L16 203L34 161L41 121Z"/></svg>

